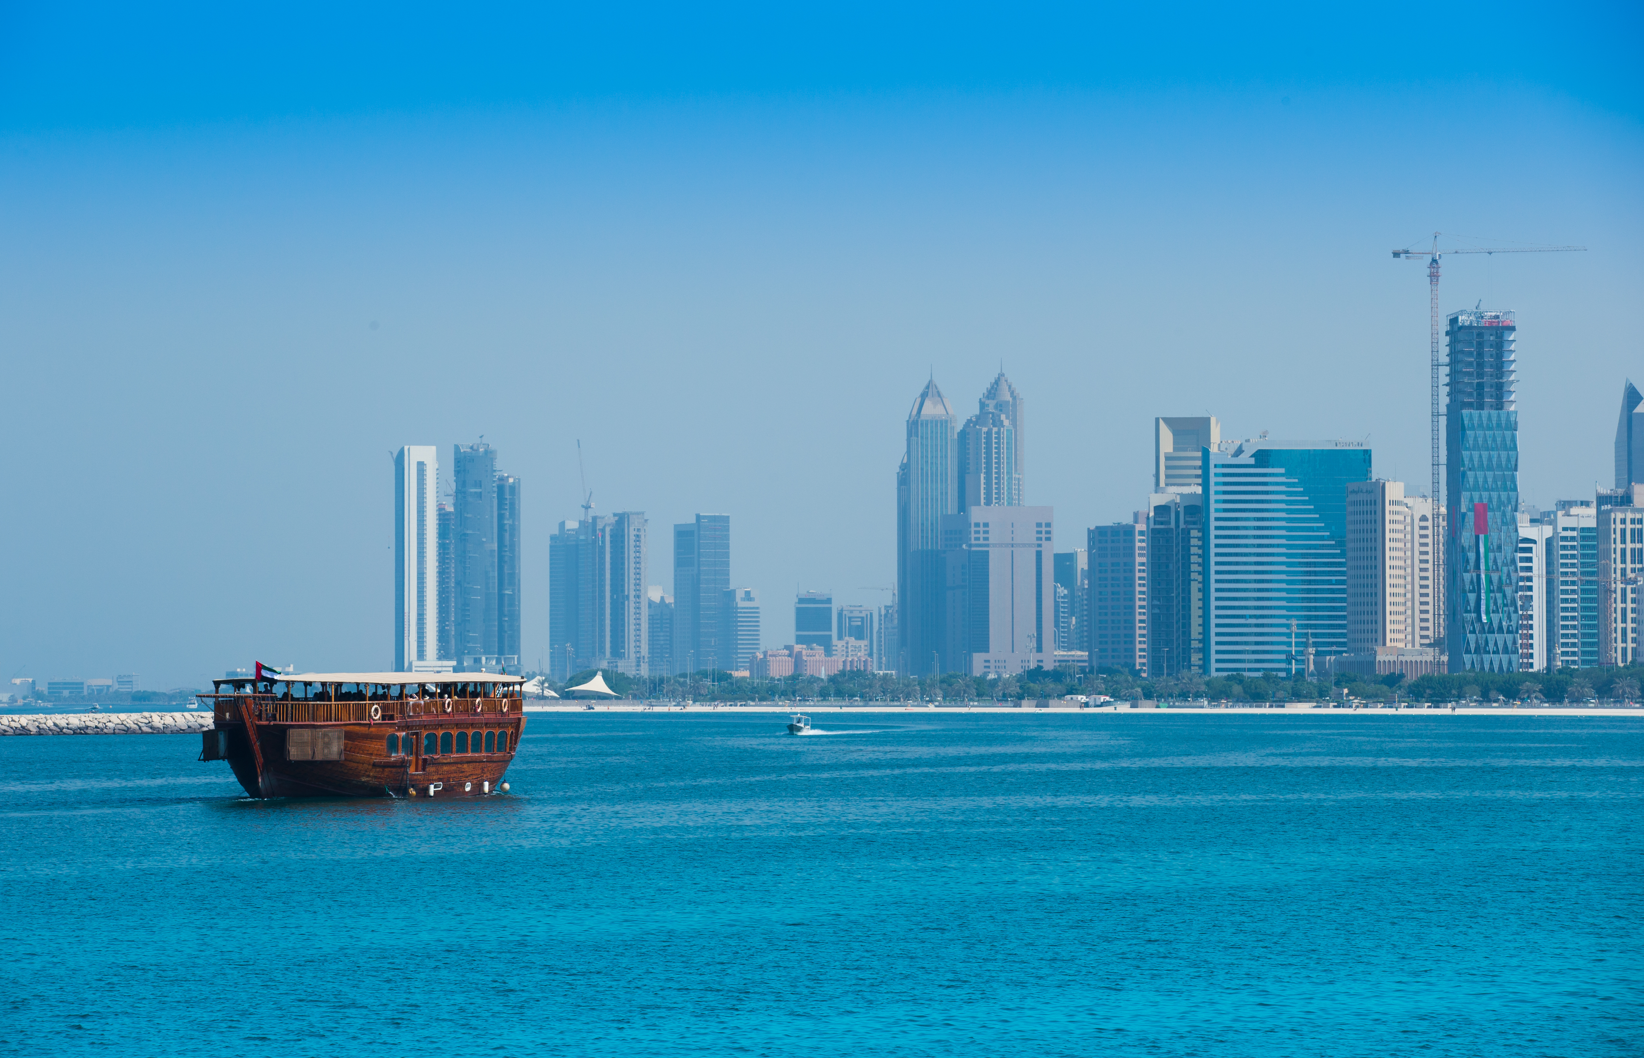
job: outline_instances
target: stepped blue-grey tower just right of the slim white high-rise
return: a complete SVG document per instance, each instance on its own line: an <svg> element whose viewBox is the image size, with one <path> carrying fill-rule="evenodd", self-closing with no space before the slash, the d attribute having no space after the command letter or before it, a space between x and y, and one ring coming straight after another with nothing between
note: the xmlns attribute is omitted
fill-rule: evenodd
<svg viewBox="0 0 1644 1058"><path fill-rule="evenodd" d="M520 667L520 480L496 473L496 450L455 445L452 493L452 660L459 672Z"/></svg>

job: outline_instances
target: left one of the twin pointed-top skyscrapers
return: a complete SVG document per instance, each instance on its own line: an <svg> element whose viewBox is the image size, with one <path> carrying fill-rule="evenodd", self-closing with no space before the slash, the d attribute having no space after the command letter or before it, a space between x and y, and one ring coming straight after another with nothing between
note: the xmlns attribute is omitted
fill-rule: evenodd
<svg viewBox="0 0 1644 1058"><path fill-rule="evenodd" d="M907 675L927 675L945 646L942 518L957 509L957 419L931 380L907 412L907 448L896 472L896 669Z"/></svg>

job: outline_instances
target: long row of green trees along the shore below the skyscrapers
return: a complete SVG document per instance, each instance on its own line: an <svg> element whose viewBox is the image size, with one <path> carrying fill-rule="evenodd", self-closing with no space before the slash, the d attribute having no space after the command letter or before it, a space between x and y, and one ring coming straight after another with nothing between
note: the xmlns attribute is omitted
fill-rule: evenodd
<svg viewBox="0 0 1644 1058"><path fill-rule="evenodd" d="M690 675L631 677L603 670L605 683L625 698L694 702L1019 702L1060 698L1065 695L1108 695L1116 700L1185 702L1325 702L1356 698L1361 702L1632 702L1644 682L1644 665L1611 669L1560 669L1557 672L1458 672L1424 675L1332 678L1263 675L1203 677L1197 672L1167 678L1138 677L1123 669L1097 669L1082 675L1062 669L1034 669L1003 678L947 674L942 677L904 677L888 672L840 672L827 678L791 675L753 680L723 670ZM554 690L584 683L593 670L579 672L564 683L549 680Z"/></svg>

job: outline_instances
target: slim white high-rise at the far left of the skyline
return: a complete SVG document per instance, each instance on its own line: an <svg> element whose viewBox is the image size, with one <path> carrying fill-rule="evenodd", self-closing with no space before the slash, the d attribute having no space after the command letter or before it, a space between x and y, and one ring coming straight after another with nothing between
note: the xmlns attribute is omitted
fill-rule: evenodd
<svg viewBox="0 0 1644 1058"><path fill-rule="evenodd" d="M395 672L449 672L439 657L439 448L395 457Z"/></svg>

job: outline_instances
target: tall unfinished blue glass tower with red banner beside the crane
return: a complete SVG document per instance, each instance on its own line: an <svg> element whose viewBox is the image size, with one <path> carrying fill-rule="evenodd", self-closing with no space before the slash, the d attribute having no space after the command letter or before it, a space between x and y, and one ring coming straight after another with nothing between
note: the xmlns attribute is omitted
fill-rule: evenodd
<svg viewBox="0 0 1644 1058"><path fill-rule="evenodd" d="M1516 334L1511 312L1450 314L1445 406L1450 672L1516 672L1519 665Z"/></svg>

